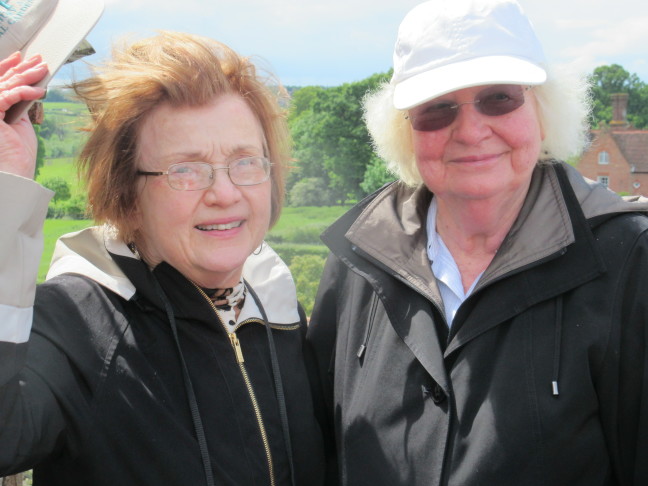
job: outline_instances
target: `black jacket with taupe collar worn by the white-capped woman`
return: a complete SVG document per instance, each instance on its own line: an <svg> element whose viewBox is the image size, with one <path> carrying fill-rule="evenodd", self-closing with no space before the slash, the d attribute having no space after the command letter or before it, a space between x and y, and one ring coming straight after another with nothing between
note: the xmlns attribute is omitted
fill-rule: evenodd
<svg viewBox="0 0 648 486"><path fill-rule="evenodd" d="M648 484L648 204L538 167L448 330L431 197L393 184L323 235L308 340L340 483Z"/></svg>

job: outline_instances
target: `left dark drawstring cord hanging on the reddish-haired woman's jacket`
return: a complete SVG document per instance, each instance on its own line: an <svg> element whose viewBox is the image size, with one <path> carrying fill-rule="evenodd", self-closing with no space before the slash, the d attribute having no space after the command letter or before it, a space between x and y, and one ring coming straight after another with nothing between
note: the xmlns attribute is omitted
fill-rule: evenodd
<svg viewBox="0 0 648 486"><path fill-rule="evenodd" d="M198 439L198 447L200 448L200 457L202 458L207 486L215 486L214 473L212 471L211 460L209 458L209 450L207 449L205 428L203 427L202 419L200 417L198 400L196 400L196 393L194 392L193 384L191 383L191 376L189 375L187 362L184 359L182 348L180 347L180 339L178 338L178 326L176 324L175 315L173 314L173 309L171 308L169 299L167 298L164 290L162 290L162 287L160 286L159 282L152 272L151 276L153 277L153 285L155 287L155 291L164 304L164 309L166 310L167 318L169 319L169 325L171 326L171 331L173 332L173 340L175 341L176 349L178 351L178 355L180 356L180 362L182 364L182 377L185 385L185 391L187 393L187 399L189 400L189 408L191 409L191 420L193 421L196 438Z"/></svg>

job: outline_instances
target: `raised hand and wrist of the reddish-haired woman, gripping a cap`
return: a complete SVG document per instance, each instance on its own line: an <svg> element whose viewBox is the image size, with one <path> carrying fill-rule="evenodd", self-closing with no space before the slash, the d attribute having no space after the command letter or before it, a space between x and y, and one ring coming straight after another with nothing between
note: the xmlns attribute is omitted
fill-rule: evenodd
<svg viewBox="0 0 648 486"><path fill-rule="evenodd" d="M0 171L34 177L38 147L27 113L13 124L5 123L4 116L19 101L42 98L45 90L30 85L46 74L47 65L40 56L22 61L16 52L0 61Z"/></svg>

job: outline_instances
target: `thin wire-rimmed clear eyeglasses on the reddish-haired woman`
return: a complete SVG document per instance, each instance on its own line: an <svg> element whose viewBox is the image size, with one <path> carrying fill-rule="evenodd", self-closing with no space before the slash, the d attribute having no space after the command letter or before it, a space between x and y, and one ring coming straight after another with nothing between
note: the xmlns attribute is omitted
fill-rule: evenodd
<svg viewBox="0 0 648 486"><path fill-rule="evenodd" d="M199 191L207 189L214 183L214 171L217 170L226 170L230 181L236 186L261 184L270 177L272 165L266 157L244 157L233 160L223 167L215 167L207 162L180 162L171 164L164 172L138 170L137 175L166 175L167 182L172 189Z"/></svg>

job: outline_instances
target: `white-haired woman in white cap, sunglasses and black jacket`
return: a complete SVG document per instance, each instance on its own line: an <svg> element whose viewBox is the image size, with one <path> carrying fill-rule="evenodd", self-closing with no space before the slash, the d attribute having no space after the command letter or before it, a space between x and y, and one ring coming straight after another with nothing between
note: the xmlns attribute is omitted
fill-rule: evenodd
<svg viewBox="0 0 648 486"><path fill-rule="evenodd" d="M512 0L402 22L365 107L399 181L324 233L308 331L341 484L648 484L648 203L560 162L585 94Z"/></svg>

